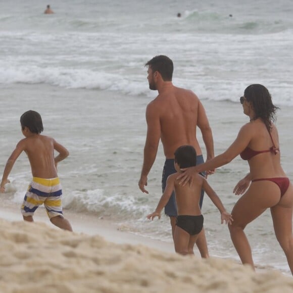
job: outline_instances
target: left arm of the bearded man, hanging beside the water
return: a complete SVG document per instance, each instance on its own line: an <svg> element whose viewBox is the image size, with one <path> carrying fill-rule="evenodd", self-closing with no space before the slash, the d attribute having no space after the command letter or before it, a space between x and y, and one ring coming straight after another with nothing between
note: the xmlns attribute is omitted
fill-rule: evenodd
<svg viewBox="0 0 293 293"><path fill-rule="evenodd" d="M148 175L155 162L161 137L160 116L153 103L146 107L145 118L146 124L148 125L148 131L146 133L143 151L143 165L138 186L142 192L149 193L144 189L144 186L148 185Z"/></svg>

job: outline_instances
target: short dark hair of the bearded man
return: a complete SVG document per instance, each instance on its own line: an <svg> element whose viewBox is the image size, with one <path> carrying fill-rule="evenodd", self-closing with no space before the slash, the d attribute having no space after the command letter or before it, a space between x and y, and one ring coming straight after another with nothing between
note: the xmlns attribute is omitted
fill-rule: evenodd
<svg viewBox="0 0 293 293"><path fill-rule="evenodd" d="M151 66L153 72L158 71L164 81L172 81L173 76L173 62L165 56L159 55L145 63L145 66Z"/></svg>

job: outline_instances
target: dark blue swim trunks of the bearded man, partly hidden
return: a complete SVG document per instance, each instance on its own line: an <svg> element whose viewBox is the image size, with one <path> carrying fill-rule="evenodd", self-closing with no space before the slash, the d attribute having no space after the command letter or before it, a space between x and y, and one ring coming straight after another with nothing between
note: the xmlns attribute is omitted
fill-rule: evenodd
<svg viewBox="0 0 293 293"><path fill-rule="evenodd" d="M204 157L202 155L197 156L197 165L204 163ZM166 159L164 169L163 169L163 176L162 176L162 190L164 192L166 188L166 181L169 175L176 173L174 167L174 159ZM201 175L205 176L206 172L200 173ZM204 190L202 189L201 193L201 200L200 200L200 208L202 208L203 200L204 200ZM165 214L169 217L177 217L177 207L176 207L176 199L175 193L172 192L171 198L167 205L165 206Z"/></svg>

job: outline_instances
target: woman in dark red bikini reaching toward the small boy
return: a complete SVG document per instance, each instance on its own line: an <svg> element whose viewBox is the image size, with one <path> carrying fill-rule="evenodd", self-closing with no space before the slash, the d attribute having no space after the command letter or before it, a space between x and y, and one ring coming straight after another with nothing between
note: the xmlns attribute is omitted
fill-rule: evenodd
<svg viewBox="0 0 293 293"><path fill-rule="evenodd" d="M236 195L244 193L231 213L234 221L229 230L234 247L242 263L254 268L251 248L243 230L270 208L275 235L293 274L293 187L280 164L278 132L274 125L278 108L272 104L269 91L261 84L248 86L240 103L250 122L241 127L235 141L223 154L185 169L178 179L184 186L192 182L193 174L228 164L238 155L247 160L250 172L233 190Z"/></svg>

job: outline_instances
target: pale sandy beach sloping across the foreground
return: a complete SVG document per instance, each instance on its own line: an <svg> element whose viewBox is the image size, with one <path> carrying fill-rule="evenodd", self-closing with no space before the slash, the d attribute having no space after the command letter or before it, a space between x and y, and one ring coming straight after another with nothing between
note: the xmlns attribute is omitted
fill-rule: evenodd
<svg viewBox="0 0 293 293"><path fill-rule="evenodd" d="M119 231L113 223L65 212L75 232L0 209L0 291L292 292L293 278L253 272L231 260L179 256L173 245Z"/></svg>

